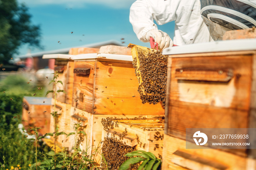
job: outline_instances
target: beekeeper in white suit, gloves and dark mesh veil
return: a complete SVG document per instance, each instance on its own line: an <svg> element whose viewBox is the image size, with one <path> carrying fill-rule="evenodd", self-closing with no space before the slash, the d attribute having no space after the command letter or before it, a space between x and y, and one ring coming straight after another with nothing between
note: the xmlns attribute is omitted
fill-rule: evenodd
<svg viewBox="0 0 256 170"><path fill-rule="evenodd" d="M216 5L216 1L218 1L218 5ZM222 39L223 33L228 29L232 30L234 25L238 25L236 29L255 26L253 22L256 15L253 1L255 0L251 0L251 2L248 0L237 0L236 2L234 0L201 0L200 3L200 0L136 0L130 8L129 20L135 34L142 42L149 42L150 37L153 37L158 43L158 49L165 49L173 44L181 46L210 42L213 41L212 37L214 40ZM242 5L244 8L241 8ZM201 6L204 7L202 10ZM236 9L232 9L233 6L236 6ZM251 10L247 10L248 8ZM242 12L236 11L242 9L244 9ZM226 12L225 16L221 12ZM238 14L238 19L241 17L246 19L245 16L249 16L249 27L244 26L245 24L240 20L231 18L231 15L236 14ZM253 18L252 21L251 18ZM215 20L213 21L213 19ZM175 21L173 40L166 32L158 30L154 20L158 25ZM226 20L231 24L226 24ZM219 28L216 23L223 23L223 25ZM245 20L245 23L247 24L248 20ZM230 28L226 29L229 26ZM215 35L211 36L212 33Z"/></svg>

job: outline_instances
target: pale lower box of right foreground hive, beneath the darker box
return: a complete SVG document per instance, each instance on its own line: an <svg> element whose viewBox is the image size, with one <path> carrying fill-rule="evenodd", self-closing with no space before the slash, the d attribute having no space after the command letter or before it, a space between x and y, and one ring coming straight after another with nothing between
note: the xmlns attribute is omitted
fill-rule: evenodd
<svg viewBox="0 0 256 170"><path fill-rule="evenodd" d="M175 154L177 153L177 151L184 152L187 155L191 155L196 159L191 159L191 157L190 158L181 157L180 155ZM204 160L205 162L202 163L202 160ZM219 167L219 168L216 168L216 167ZM226 167L226 170L244 170L246 168L246 158L239 157L237 155L230 154L223 151L210 149L203 146L202 146L202 149L186 149L185 140L174 138L169 135L164 136L162 169L198 170L198 169L225 169L225 167Z"/></svg>

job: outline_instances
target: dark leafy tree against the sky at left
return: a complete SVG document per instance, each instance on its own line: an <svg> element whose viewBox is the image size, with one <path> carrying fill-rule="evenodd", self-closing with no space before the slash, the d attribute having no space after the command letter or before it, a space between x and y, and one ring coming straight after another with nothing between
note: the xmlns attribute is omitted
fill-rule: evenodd
<svg viewBox="0 0 256 170"><path fill-rule="evenodd" d="M33 25L30 18L25 4L0 0L0 63L7 64L23 44L42 48L40 27Z"/></svg>

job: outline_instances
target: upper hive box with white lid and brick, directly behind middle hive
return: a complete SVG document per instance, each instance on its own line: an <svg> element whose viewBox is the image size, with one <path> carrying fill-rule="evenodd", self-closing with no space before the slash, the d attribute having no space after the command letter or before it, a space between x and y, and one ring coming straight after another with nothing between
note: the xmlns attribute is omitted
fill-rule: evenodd
<svg viewBox="0 0 256 170"><path fill-rule="evenodd" d="M55 59L54 70L58 71L59 77L57 81L63 83L58 83L56 86L57 90L64 90L66 93L58 93L56 99L67 104L72 103L72 93L73 93L73 82L74 82L74 60L71 59L72 55L87 54L87 53L97 53L99 49L95 48L71 48L69 54L47 54L44 55L44 59ZM54 96L53 96L54 97Z"/></svg>

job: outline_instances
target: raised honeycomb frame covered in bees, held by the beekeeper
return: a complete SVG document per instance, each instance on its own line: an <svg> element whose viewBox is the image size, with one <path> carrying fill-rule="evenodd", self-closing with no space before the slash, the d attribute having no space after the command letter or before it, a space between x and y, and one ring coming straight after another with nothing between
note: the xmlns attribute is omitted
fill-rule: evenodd
<svg viewBox="0 0 256 170"><path fill-rule="evenodd" d="M165 107L168 56L162 51L137 47L133 56L133 67L139 81L138 92L142 103L157 104Z"/></svg>

